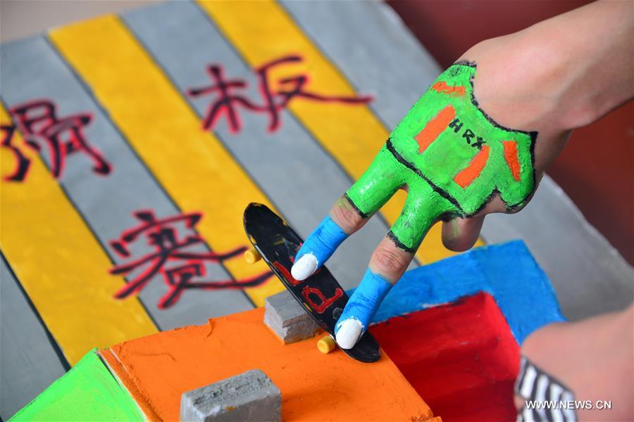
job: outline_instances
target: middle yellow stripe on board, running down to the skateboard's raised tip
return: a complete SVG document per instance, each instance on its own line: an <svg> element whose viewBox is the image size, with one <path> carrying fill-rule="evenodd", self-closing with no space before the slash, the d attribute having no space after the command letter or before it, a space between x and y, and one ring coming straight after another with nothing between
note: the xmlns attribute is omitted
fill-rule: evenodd
<svg viewBox="0 0 634 422"><path fill-rule="evenodd" d="M247 245L244 208L251 202L273 206L222 143L201 129L199 117L120 20L87 20L49 37L180 209L203 213L197 229L209 246L222 252ZM236 279L268 270L242 257L224 264ZM262 306L282 289L273 277L245 291Z"/></svg>

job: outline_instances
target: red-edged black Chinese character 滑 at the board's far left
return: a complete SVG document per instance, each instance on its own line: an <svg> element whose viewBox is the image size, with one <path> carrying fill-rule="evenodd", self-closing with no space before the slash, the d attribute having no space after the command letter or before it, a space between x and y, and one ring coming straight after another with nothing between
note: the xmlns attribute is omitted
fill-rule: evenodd
<svg viewBox="0 0 634 422"><path fill-rule="evenodd" d="M92 120L89 113L80 113L68 117L58 117L56 106L48 100L30 101L11 109L11 115L18 129L24 136L25 143L35 151L41 151L42 144L49 148L51 173L55 178L61 177L66 165L66 155L83 153L92 160L92 171L105 175L111 171L111 165L104 160L101 153L92 147L83 133ZM18 158L18 169L11 180L23 180L30 160L11 145L9 139L3 146L11 148Z"/></svg>

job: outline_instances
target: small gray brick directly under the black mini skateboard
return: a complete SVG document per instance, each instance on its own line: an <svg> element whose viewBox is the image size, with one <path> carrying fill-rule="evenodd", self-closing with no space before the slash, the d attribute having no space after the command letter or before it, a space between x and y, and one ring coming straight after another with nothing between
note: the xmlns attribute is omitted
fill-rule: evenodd
<svg viewBox="0 0 634 422"><path fill-rule="evenodd" d="M319 330L316 322L287 290L266 298L264 324L286 344L311 338Z"/></svg>

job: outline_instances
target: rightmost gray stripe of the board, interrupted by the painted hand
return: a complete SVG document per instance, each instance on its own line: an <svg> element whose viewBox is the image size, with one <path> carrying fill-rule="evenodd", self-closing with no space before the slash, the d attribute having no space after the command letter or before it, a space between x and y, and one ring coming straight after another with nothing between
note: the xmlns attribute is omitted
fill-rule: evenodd
<svg viewBox="0 0 634 422"><path fill-rule="evenodd" d="M375 92L371 104L394 127L440 72L400 18L373 1L288 1L282 4L352 85ZM634 274L549 177L517 215L489 215L482 236L526 242L570 319L622 309L633 300Z"/></svg>

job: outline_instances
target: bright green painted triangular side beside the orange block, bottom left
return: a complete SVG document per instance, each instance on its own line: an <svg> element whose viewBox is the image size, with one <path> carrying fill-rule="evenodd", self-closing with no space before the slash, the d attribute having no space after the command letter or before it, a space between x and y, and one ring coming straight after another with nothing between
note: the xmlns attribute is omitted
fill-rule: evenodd
<svg viewBox="0 0 634 422"><path fill-rule="evenodd" d="M93 349L10 421L144 421L144 416Z"/></svg>

